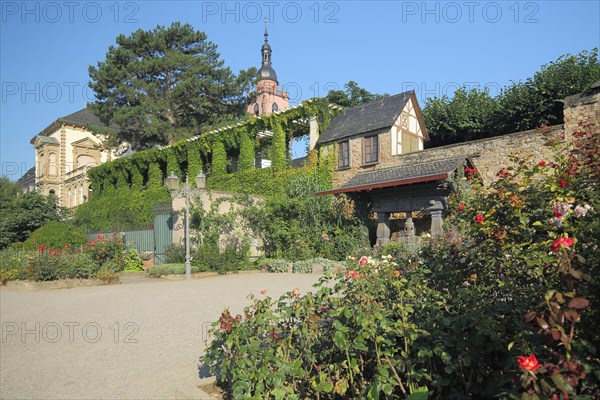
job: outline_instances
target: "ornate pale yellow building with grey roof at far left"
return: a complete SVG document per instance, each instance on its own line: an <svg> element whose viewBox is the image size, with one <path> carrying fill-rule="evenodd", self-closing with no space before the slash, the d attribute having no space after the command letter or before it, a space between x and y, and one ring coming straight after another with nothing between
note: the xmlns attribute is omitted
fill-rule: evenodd
<svg viewBox="0 0 600 400"><path fill-rule="evenodd" d="M108 128L84 108L58 118L35 135L35 189L55 195L63 207L75 207L90 198L88 169L125 155L128 146L107 149L92 127Z"/></svg>

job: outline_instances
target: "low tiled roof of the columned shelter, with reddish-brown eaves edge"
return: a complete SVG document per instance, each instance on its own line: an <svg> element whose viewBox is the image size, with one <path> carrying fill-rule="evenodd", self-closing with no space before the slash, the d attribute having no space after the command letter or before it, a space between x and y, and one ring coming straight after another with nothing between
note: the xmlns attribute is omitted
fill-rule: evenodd
<svg viewBox="0 0 600 400"><path fill-rule="evenodd" d="M363 190L437 181L449 178L454 171L464 166L465 161L471 165L468 157L460 156L361 172L354 175L338 189L326 190L315 194L321 196L325 194L360 192Z"/></svg>

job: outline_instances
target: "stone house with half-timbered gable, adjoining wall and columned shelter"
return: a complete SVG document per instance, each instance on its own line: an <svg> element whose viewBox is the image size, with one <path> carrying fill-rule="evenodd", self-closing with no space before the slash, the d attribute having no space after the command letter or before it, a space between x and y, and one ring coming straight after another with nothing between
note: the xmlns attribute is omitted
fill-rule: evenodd
<svg viewBox="0 0 600 400"><path fill-rule="evenodd" d="M377 215L378 245L390 241L393 214L405 215L399 241L414 242L415 213L430 216L431 234L441 234L453 179L467 168L476 168L483 182L489 184L498 179L501 168L513 166L515 160L550 160L555 150L551 144L568 144L580 123L590 124L596 132L600 129L597 82L588 91L565 99L564 125L424 150L427 131L416 100L411 114L411 102L400 101L402 97L412 99L414 94L391 96L387 107L384 98L347 110L333 119L316 141L321 155L335 152L338 158L334 189L317 195L346 193L363 207L371 204L371 211ZM392 124L391 117L395 118ZM407 117L412 117L414 123L404 122Z"/></svg>

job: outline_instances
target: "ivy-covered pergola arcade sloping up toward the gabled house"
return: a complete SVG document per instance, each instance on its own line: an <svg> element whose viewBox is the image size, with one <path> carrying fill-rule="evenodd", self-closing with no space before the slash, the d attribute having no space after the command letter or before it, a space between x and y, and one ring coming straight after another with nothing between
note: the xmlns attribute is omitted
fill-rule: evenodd
<svg viewBox="0 0 600 400"><path fill-rule="evenodd" d="M285 175L277 174L287 169L289 142L309 133L310 117L317 118L323 132L340 111L340 107L330 105L325 99L307 100L285 111L250 117L172 146L139 151L102 164L88 172L94 190L92 201L117 192L159 188L171 171L182 181L189 174L192 184L200 171L208 172L209 187L262 194L261 187L271 186L268 180ZM265 136L266 131L272 132L272 137ZM255 153L266 145L271 145L273 166L264 171L254 170ZM239 156L238 174L227 173L227 157L233 154ZM239 190L234 189L238 187Z"/></svg>

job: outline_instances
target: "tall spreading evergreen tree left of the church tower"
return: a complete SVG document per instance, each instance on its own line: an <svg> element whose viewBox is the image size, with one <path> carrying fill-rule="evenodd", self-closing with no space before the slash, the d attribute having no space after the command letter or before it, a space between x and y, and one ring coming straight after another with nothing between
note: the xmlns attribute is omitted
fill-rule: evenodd
<svg viewBox="0 0 600 400"><path fill-rule="evenodd" d="M203 126L245 114L246 92L256 69L234 74L217 45L190 25L173 23L119 35L105 61L90 66L96 101L88 107L118 130L96 130L112 144L134 148L171 144Z"/></svg>

